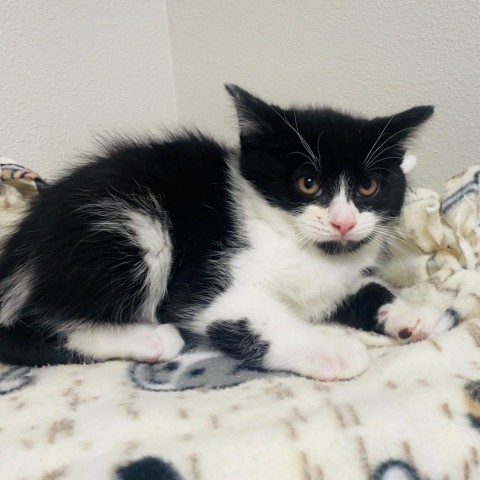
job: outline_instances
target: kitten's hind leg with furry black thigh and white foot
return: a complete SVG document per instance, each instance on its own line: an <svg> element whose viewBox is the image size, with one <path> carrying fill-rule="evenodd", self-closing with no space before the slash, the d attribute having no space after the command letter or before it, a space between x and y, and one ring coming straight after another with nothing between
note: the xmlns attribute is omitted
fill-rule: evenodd
<svg viewBox="0 0 480 480"><path fill-rule="evenodd" d="M173 258L168 219L152 195L133 200L83 199L62 243L47 223L32 255L18 254L36 235L23 224L1 263L1 361L168 361L179 353L178 331L157 319Z"/></svg>

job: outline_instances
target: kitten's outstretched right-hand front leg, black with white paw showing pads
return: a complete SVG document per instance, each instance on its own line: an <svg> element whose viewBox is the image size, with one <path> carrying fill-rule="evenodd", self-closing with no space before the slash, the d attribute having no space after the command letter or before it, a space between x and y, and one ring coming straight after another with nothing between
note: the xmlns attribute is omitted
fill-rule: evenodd
<svg viewBox="0 0 480 480"><path fill-rule="evenodd" d="M410 305L382 280L366 279L347 297L334 320L361 330L385 333L404 342L418 342L458 324L454 310L441 312L433 305Z"/></svg>

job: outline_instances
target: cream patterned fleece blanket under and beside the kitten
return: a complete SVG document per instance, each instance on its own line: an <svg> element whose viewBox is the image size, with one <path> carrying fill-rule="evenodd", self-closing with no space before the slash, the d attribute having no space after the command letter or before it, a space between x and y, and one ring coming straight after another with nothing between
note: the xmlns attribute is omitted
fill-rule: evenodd
<svg viewBox="0 0 480 480"><path fill-rule="evenodd" d="M384 273L411 301L455 308L456 329L403 346L348 331L371 366L346 382L195 350L156 365L0 365L0 478L480 479L479 177L409 192L408 256Z"/></svg>

